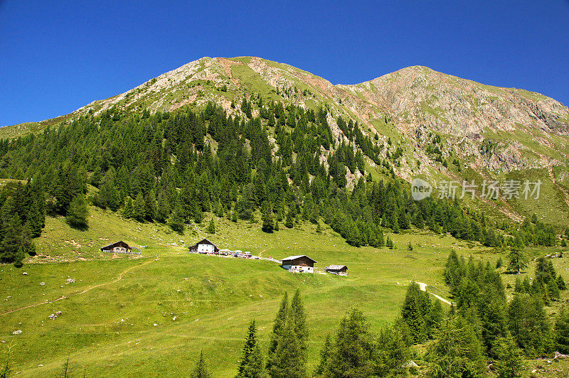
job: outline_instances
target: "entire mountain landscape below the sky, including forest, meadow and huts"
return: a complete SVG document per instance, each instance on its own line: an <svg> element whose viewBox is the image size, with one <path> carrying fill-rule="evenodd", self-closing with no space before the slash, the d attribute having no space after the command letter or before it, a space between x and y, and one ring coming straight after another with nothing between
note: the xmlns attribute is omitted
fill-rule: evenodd
<svg viewBox="0 0 569 378"><path fill-rule="evenodd" d="M555 99L201 58L0 138L0 377L569 374Z"/></svg>

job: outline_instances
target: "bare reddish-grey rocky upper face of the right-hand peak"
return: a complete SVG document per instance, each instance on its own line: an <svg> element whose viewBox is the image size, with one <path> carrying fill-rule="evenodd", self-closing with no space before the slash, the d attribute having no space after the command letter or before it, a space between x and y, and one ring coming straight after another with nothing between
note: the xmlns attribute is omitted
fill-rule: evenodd
<svg viewBox="0 0 569 378"><path fill-rule="evenodd" d="M409 124L453 136L520 127L567 134L569 109L535 92L492 87L415 66L358 85L341 86Z"/></svg>

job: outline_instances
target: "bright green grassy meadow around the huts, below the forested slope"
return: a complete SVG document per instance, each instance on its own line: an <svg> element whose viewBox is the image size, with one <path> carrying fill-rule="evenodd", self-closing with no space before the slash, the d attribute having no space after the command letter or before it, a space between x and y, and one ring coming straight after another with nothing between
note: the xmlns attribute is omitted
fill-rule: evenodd
<svg viewBox="0 0 569 378"><path fill-rule="evenodd" d="M70 229L63 218L48 218L37 244L38 252L49 257L33 259L45 264L0 266L0 340L5 341L0 350L12 345L18 377L53 377L68 356L72 376L183 376L201 350L214 377L232 377L248 322L257 320L266 350L282 294L297 288L307 309L312 370L326 334L334 332L351 306L361 308L373 330L380 330L398 315L411 280L447 298L442 269L451 247L492 264L499 257L417 230L390 235L397 246L392 251L350 247L328 227L317 234L311 224L265 234L259 224L235 225L215 217L218 233L205 232L206 219L180 236L93 207L90 212L86 232ZM263 257L308 254L319 270L346 264L349 276L291 274L271 261L186 254L180 247L203 237L220 248ZM98 251L117 239L148 247L137 259L112 259ZM178 246L170 245L174 242ZM412 253L406 250L408 242ZM555 259L564 276L565 265L565 259ZM504 275L505 281L514 279ZM50 320L56 311L62 315ZM12 335L15 330L22 333Z"/></svg>

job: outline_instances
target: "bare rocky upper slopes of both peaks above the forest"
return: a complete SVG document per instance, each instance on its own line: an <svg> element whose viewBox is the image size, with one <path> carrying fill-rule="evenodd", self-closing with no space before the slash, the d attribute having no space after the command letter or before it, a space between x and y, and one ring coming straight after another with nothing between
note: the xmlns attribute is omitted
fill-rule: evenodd
<svg viewBox="0 0 569 378"><path fill-rule="evenodd" d="M171 112L211 101L243 116L238 104L258 95L265 103L326 108L339 142L349 139L336 124L338 117L358 121L363 134L381 147L376 161L398 155L391 167L405 180L422 175L462 182L545 168L540 174L551 180L555 197L567 205L569 185L563 180L568 176L568 107L536 92L483 85L421 66L356 85L332 85L310 72L262 58L201 58L67 116L4 127L0 137L115 109ZM258 115L259 109L252 114ZM371 168L376 166L366 159Z"/></svg>

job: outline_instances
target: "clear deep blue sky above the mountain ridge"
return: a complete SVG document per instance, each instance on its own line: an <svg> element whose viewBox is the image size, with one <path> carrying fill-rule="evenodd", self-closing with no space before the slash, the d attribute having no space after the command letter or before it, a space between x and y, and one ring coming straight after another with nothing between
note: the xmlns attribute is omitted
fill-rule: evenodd
<svg viewBox="0 0 569 378"><path fill-rule="evenodd" d="M426 65L569 104L568 0L304 3L0 0L0 125L68 114L203 56L260 56L334 84Z"/></svg>

